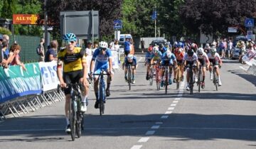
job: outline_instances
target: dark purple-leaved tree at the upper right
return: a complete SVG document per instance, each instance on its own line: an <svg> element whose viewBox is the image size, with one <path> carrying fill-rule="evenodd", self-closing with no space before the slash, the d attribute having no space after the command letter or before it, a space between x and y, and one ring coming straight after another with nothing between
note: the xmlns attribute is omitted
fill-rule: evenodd
<svg viewBox="0 0 256 149"><path fill-rule="evenodd" d="M184 26L191 33L228 34L229 26L244 26L245 18L255 16L256 0L186 0L181 7Z"/></svg>

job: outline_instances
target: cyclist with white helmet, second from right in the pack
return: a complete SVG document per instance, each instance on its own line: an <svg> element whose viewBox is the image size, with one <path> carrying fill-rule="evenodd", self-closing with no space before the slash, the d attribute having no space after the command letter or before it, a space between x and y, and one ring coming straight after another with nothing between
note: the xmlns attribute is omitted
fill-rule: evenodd
<svg viewBox="0 0 256 149"><path fill-rule="evenodd" d="M208 59L207 54L203 51L203 48L198 48L197 50L197 56L198 56L198 67L201 63L202 70L203 70L203 80L202 80L202 87L205 87L205 78L206 78L206 70L208 70L208 67L210 66L210 62Z"/></svg>

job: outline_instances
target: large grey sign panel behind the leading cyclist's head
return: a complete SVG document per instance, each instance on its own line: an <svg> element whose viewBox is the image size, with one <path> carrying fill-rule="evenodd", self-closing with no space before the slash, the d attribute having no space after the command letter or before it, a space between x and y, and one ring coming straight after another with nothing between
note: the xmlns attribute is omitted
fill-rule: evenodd
<svg viewBox="0 0 256 149"><path fill-rule="evenodd" d="M78 38L99 38L99 11L61 11L60 33L75 33Z"/></svg>

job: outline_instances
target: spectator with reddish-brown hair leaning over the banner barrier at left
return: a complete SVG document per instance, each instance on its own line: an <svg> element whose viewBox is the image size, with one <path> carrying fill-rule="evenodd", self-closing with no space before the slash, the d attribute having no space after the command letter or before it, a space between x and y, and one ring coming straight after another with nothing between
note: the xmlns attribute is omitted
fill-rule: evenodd
<svg viewBox="0 0 256 149"><path fill-rule="evenodd" d="M26 70L25 65L23 64L23 62L21 62L20 57L18 55L20 51L21 51L20 45L18 45L17 43L14 43L13 45L11 45L10 54L9 54L9 57L13 57L11 60L11 65L20 65L23 70Z"/></svg>

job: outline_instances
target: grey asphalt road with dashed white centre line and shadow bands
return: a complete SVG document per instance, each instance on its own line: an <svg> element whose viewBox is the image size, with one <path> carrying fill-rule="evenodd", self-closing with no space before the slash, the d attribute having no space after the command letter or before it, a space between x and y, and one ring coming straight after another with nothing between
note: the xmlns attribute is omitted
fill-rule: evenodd
<svg viewBox="0 0 256 149"><path fill-rule="evenodd" d="M81 138L72 141L65 133L61 101L0 123L0 148L256 148L256 77L244 65L225 60L218 92L207 74L200 93L190 95L183 82L164 94L155 82L149 86L143 60L131 91L123 72L114 75L103 116L90 92Z"/></svg>

